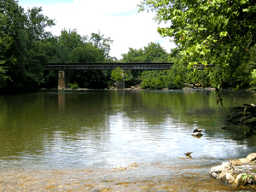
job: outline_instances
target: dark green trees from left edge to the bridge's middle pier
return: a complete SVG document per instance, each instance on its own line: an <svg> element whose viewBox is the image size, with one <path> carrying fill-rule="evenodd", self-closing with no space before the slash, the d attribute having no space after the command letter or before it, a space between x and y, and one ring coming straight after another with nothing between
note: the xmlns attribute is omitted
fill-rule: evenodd
<svg viewBox="0 0 256 192"><path fill-rule="evenodd" d="M15 0L0 1L0 91L3 93L56 87L57 72L44 72L49 62L110 62L113 41L101 32L81 37L76 30L54 37L45 29L55 21L42 8L25 11ZM68 72L71 84L105 88L112 83L108 71Z"/></svg>

